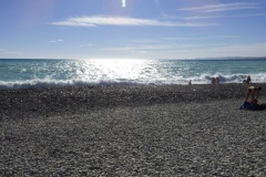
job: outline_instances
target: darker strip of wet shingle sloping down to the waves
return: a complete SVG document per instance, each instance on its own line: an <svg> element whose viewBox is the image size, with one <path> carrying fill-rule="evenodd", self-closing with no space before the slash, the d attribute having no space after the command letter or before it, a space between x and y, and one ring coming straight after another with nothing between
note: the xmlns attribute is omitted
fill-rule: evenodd
<svg viewBox="0 0 266 177"><path fill-rule="evenodd" d="M263 85L266 90L266 84ZM243 98L246 84L160 85L160 86L91 86L41 90L0 91L2 114L42 115L79 113L114 106L142 106L181 102L208 102ZM265 91L263 91L265 93ZM263 94L262 94L263 95ZM14 114L14 115L13 115Z"/></svg>

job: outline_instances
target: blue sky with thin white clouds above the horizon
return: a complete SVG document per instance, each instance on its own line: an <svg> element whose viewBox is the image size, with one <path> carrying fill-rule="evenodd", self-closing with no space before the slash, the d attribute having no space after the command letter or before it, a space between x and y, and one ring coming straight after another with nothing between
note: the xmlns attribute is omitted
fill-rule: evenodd
<svg viewBox="0 0 266 177"><path fill-rule="evenodd" d="M265 0L1 0L0 59L266 56Z"/></svg>

